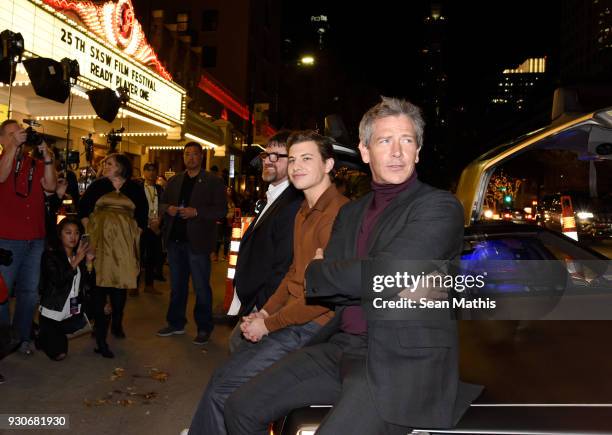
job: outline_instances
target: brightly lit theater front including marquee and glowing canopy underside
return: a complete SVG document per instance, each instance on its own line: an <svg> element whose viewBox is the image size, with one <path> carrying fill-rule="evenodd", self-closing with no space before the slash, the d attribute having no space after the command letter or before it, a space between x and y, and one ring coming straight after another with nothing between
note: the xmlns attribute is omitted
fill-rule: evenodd
<svg viewBox="0 0 612 435"><path fill-rule="evenodd" d="M132 157L138 175L149 147L176 146L188 137L209 148L221 145L220 130L189 121L185 89L135 16L129 0L0 5L0 69L10 71L16 61L15 74L0 77L2 112L40 123L36 128L56 147L77 151L73 169L95 166L116 149ZM22 57L14 51L19 47Z"/></svg>

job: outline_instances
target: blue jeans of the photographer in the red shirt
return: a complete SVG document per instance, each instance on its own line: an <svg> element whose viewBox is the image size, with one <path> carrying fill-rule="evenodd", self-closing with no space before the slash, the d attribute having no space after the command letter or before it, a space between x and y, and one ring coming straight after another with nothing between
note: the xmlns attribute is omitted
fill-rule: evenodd
<svg viewBox="0 0 612 435"><path fill-rule="evenodd" d="M0 274L9 293L17 298L12 325L20 341L30 341L34 309L38 303L40 261L45 241L0 239L0 248L13 253L13 263L10 266L0 266ZM0 322L8 324L9 319L9 304L0 304Z"/></svg>

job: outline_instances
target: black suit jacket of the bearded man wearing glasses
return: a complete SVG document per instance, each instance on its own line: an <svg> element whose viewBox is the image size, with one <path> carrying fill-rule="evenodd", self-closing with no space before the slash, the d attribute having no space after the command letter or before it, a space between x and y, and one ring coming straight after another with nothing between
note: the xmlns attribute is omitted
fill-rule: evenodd
<svg viewBox="0 0 612 435"><path fill-rule="evenodd" d="M234 275L240 315L263 307L287 273L293 260L293 223L303 200L302 192L289 185L244 233Z"/></svg>

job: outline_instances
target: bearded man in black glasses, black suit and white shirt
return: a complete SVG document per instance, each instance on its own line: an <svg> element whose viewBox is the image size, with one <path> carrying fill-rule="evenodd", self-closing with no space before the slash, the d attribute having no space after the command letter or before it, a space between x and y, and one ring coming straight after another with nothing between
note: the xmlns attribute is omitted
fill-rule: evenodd
<svg viewBox="0 0 612 435"><path fill-rule="evenodd" d="M304 200L287 176L287 139L290 131L270 137L259 155L261 178L270 183L266 200L258 201L256 217L240 242L234 276L234 301L229 314L247 316L259 310L274 293L293 259L293 222ZM230 351L242 343L240 328L230 337Z"/></svg>

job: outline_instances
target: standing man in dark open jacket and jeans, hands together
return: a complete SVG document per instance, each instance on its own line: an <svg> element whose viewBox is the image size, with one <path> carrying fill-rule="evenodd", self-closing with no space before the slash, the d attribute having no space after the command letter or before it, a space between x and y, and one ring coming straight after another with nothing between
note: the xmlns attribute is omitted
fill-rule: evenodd
<svg viewBox="0 0 612 435"><path fill-rule="evenodd" d="M202 146L189 142L183 151L186 170L168 180L161 199L163 238L170 265L168 326L157 335L185 333L189 275L196 294L193 317L198 333L193 344L208 342L213 330L210 253L216 242L216 222L227 213L225 187L219 177L202 169Z"/></svg>

